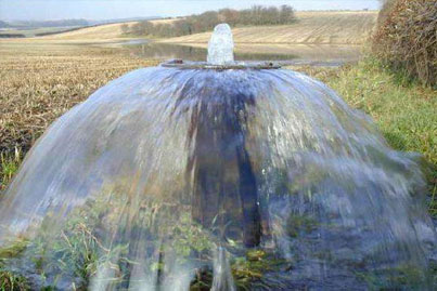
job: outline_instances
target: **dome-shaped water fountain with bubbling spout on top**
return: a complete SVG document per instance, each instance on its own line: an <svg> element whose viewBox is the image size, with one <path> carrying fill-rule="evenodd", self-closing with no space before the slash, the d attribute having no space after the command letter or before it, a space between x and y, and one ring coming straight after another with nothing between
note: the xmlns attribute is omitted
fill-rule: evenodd
<svg viewBox="0 0 437 291"><path fill-rule="evenodd" d="M0 267L35 289L432 289L419 157L232 49L220 25L207 63L129 72L56 120L0 201Z"/></svg>

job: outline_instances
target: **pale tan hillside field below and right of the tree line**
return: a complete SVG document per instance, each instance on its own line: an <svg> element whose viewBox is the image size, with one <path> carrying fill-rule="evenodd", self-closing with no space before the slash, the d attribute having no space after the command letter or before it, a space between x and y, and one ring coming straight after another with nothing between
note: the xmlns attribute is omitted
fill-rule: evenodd
<svg viewBox="0 0 437 291"><path fill-rule="evenodd" d="M292 25L233 28L237 43L362 44L372 32L377 11L296 12ZM160 42L206 43L210 32L162 39Z"/></svg>

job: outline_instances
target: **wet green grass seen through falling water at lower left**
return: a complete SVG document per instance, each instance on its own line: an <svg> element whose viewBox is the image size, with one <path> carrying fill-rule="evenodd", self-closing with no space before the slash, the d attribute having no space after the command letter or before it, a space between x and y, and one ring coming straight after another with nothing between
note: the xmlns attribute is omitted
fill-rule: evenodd
<svg viewBox="0 0 437 291"><path fill-rule="evenodd" d="M113 228L126 217L127 213L120 210L132 211L132 208L127 207L130 202L126 195L112 195L110 200L116 204L112 208L100 199L107 198L88 201L69 213L64 223L49 215L31 240L18 238L0 248L0 291L55 290L59 282L72 290L87 290L91 278L94 282L108 281L111 289L125 290L129 286L132 267L143 264L141 261L144 259L137 253L140 246L146 262L152 263L143 265L144 272L157 272L158 281L160 274L177 264L194 268L192 274L197 274L191 282L191 290L211 288L210 262L218 240L208 229L193 222L189 212L183 209L173 211L173 207L167 209L164 204L137 208L131 222L118 226L107 236L104 234L106 227ZM164 247L163 241L169 246ZM228 242L224 240L222 243ZM245 250L242 241L233 241L232 246L226 247L232 249L232 254L228 255L237 290L262 287L264 274L284 264L284 260L264 250ZM167 263L160 259L149 260L157 254L176 260ZM104 278L99 277L99 272L105 269L112 272Z"/></svg>

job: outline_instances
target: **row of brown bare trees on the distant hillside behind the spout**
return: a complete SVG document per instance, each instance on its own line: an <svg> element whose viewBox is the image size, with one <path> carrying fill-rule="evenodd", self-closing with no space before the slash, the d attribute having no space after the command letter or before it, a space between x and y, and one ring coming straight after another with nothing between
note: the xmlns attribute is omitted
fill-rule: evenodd
<svg viewBox="0 0 437 291"><path fill-rule="evenodd" d="M124 34L149 37L180 37L211 30L219 23L231 26L248 25L283 25L296 21L294 10L290 5L261 6L233 10L221 9L191 15L168 24L153 24L149 21L139 22L132 26L121 26Z"/></svg>

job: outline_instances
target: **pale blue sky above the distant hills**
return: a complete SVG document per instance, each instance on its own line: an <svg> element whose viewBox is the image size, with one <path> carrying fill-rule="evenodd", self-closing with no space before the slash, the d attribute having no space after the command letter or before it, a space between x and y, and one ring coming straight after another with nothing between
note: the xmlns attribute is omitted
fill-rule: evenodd
<svg viewBox="0 0 437 291"><path fill-rule="evenodd" d="M376 10L377 0L0 0L1 21L183 16L221 8L288 4L296 10Z"/></svg>

